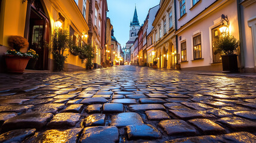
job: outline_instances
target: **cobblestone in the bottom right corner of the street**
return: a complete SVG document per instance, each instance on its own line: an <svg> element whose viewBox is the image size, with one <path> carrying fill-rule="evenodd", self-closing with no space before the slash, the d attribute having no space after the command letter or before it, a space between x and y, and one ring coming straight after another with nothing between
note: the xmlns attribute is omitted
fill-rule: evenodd
<svg viewBox="0 0 256 143"><path fill-rule="evenodd" d="M223 135L226 142L256 142L256 136L249 132L236 132Z"/></svg>

